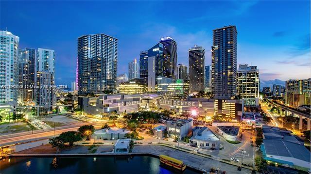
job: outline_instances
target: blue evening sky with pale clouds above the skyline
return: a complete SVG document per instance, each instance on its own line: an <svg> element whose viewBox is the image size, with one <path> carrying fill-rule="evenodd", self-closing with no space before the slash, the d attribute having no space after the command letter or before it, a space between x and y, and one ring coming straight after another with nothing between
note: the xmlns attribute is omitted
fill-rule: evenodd
<svg viewBox="0 0 311 174"><path fill-rule="evenodd" d="M75 79L77 38L105 33L119 39L118 74L161 37L177 41L177 63L188 49L205 47L212 30L236 25L238 64L257 65L261 87L310 78L310 1L0 1L0 30L19 47L56 52L56 84Z"/></svg>

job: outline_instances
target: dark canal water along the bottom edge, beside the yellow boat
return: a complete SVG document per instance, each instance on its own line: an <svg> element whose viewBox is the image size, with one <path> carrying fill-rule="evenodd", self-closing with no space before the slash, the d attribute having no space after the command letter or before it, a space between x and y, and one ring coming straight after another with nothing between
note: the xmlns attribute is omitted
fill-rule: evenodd
<svg viewBox="0 0 311 174"><path fill-rule="evenodd" d="M8 158L0 161L0 174L173 174L149 156ZM184 174L197 174L187 168Z"/></svg>

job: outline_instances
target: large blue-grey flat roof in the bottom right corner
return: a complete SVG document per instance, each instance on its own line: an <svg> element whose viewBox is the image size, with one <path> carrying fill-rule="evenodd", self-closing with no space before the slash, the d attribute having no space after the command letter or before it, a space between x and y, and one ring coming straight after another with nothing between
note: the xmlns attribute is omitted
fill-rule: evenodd
<svg viewBox="0 0 311 174"><path fill-rule="evenodd" d="M273 158L275 155L310 162L310 151L304 145L277 139L264 139L263 145L269 158Z"/></svg>

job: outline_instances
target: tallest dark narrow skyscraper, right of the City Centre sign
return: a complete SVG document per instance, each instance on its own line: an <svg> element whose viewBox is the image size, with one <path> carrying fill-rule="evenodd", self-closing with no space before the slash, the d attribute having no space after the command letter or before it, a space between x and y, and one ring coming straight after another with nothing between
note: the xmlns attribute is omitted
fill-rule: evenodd
<svg viewBox="0 0 311 174"><path fill-rule="evenodd" d="M232 99L237 93L237 29L213 30L211 87L215 99Z"/></svg>

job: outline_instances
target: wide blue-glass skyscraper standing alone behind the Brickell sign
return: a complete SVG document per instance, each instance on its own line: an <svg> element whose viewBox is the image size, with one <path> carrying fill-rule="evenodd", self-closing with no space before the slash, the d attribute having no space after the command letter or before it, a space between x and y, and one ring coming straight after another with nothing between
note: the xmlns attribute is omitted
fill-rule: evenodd
<svg viewBox="0 0 311 174"><path fill-rule="evenodd" d="M106 34L78 38L78 94L116 90L118 39Z"/></svg>

